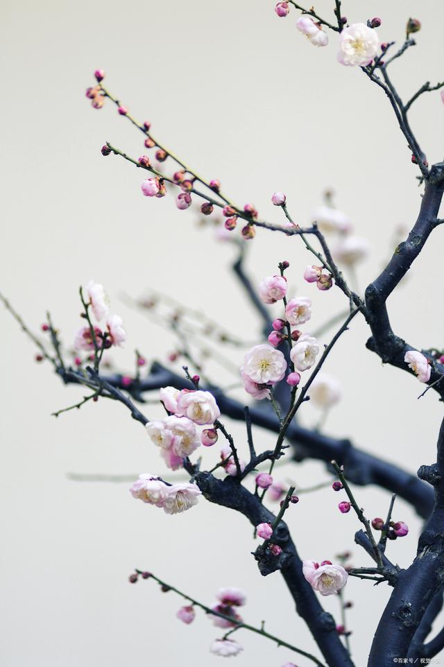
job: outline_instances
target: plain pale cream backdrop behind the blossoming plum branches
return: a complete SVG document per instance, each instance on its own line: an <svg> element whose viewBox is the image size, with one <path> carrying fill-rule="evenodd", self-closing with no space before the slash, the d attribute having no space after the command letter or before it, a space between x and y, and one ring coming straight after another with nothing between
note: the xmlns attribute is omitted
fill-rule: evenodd
<svg viewBox="0 0 444 667"><path fill-rule="evenodd" d="M332 1L319 0L321 15ZM401 94L427 79L442 79L444 10L432 0L343 2L349 20L380 15L382 40L400 40L409 15L423 28L419 45L393 65ZM149 286L183 304L199 306L239 335L257 335L255 313L230 274L232 248L196 227L172 198L148 200L142 175L117 157L101 157L105 140L138 157L142 135L115 107L93 110L84 90L103 67L106 85L155 136L184 156L240 203L280 220L270 202L287 193L305 224L326 187L336 191L372 255L359 270L361 288L393 248L396 225L411 225L420 203L416 168L383 92L357 69L336 63L336 35L314 49L296 31L298 12L278 19L273 1L204 0L126 3L66 0L3 1L3 243L1 290L38 328L46 309L69 343L78 326L80 283L103 282L129 333L114 361L132 368L133 349L164 360L173 338L121 300ZM444 107L438 93L411 113L429 161L443 155ZM171 169L168 163L165 165ZM444 230L434 232L409 281L390 300L395 331L419 347L443 345L441 252ZM255 279L291 261L290 279L314 300L317 327L343 307L340 293L302 284L309 257L299 239L261 231L250 248ZM250 556L252 531L243 517L200 501L184 515L135 502L127 484L78 483L67 472L168 475L144 430L116 404L88 404L56 421L51 412L76 402L79 388L63 388L49 366L33 362L33 345L1 313L3 339L1 460L1 667L210 667L221 658L208 646L219 636L200 617L189 627L175 618L181 602L153 582L130 586L134 566L151 569L207 603L221 586L244 588L251 623L301 648L316 648L278 574L262 579ZM327 370L344 398L327 431L351 435L360 447L415 471L434 460L442 408L433 392L407 374L382 367L367 352L368 331L355 320ZM239 355L234 358L237 363ZM214 381L223 376L215 374ZM6 408L6 406L8 406ZM303 420L313 424L314 409ZM160 415L148 406L150 416ZM230 424L245 449L244 431ZM272 439L257 432L259 447ZM214 460L216 452L207 453ZM281 469L303 485L326 478L322 465ZM384 515L388 494L357 490L370 516ZM334 497L332 497L334 495ZM289 513L302 557L332 558L352 548L355 565L368 563L352 544L352 513L339 514L329 490L304 496ZM402 566L415 553L419 521L400 501L396 519L409 537L389 544ZM347 598L352 650L366 662L386 587L350 581ZM334 598L325 607L338 612ZM247 632L237 665L279 667L305 659Z"/></svg>

